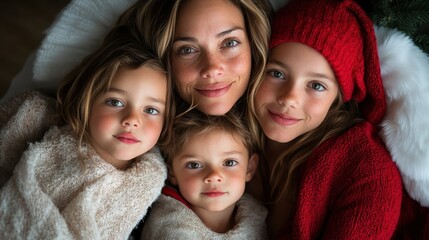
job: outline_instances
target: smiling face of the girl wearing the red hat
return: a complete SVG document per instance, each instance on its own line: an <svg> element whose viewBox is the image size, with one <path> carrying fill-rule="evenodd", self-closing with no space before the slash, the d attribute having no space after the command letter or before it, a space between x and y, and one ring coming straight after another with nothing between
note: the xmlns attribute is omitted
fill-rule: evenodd
<svg viewBox="0 0 429 240"><path fill-rule="evenodd" d="M283 43L270 52L265 79L256 96L265 135L287 143L317 128L339 93L326 59L300 43Z"/></svg>

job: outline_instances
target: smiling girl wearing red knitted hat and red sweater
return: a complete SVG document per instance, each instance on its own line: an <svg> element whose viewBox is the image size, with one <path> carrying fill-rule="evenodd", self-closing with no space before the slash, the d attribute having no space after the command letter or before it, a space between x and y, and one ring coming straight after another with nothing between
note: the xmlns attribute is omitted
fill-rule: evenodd
<svg viewBox="0 0 429 240"><path fill-rule="evenodd" d="M252 91L265 159L251 192L271 239L390 239L401 177L377 125L386 110L372 22L351 0L293 1L272 25Z"/></svg>

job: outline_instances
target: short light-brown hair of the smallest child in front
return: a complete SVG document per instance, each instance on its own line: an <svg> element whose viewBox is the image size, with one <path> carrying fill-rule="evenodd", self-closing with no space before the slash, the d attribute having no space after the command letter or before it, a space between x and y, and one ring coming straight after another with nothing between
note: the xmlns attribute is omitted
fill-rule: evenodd
<svg viewBox="0 0 429 240"><path fill-rule="evenodd" d="M249 156L258 152L257 143L244 122L243 114L235 109L225 115L207 115L191 109L176 117L169 133L169 143L160 145L161 152L167 165L171 166L174 156L177 156L188 144L189 139L196 135L222 131L231 134L236 141L241 141L248 150Z"/></svg>

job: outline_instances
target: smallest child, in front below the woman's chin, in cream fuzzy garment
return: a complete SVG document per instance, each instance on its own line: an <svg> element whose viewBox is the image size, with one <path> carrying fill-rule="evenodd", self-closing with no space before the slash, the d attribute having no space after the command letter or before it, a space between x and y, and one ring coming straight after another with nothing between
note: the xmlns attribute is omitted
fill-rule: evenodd
<svg viewBox="0 0 429 240"><path fill-rule="evenodd" d="M258 156L240 115L191 110L174 122L171 134L172 144L161 149L177 189L164 188L142 239L265 239L266 209L243 195Z"/></svg>

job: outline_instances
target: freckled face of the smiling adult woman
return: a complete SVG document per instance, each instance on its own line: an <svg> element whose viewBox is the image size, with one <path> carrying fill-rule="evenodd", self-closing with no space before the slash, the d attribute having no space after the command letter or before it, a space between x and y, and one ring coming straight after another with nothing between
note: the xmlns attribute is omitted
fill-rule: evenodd
<svg viewBox="0 0 429 240"><path fill-rule="evenodd" d="M223 115L245 93L251 49L243 14L228 0L183 2L171 52L181 98L210 115Z"/></svg>

